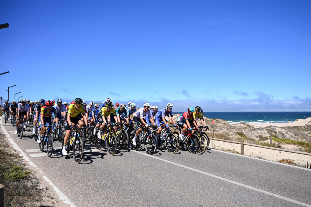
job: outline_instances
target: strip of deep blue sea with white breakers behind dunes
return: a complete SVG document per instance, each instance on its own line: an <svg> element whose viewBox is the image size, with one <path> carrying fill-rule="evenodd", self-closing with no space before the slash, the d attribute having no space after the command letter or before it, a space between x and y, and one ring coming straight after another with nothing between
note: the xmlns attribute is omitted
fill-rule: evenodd
<svg viewBox="0 0 311 207"><path fill-rule="evenodd" d="M293 122L311 117L311 112L205 112L205 117L227 122Z"/></svg>

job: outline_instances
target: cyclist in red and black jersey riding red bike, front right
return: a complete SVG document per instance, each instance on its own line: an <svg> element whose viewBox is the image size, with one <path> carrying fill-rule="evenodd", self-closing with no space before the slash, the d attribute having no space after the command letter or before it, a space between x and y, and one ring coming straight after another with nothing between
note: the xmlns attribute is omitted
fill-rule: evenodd
<svg viewBox="0 0 311 207"><path fill-rule="evenodd" d="M188 108L188 111L184 112L177 119L177 125L182 128L181 133L179 134L179 138L181 141L183 141L184 133L186 132L188 128L190 131L192 131L194 127L197 127L197 124L193 123L193 120L194 120L193 112L194 112L194 109L190 107Z"/></svg>

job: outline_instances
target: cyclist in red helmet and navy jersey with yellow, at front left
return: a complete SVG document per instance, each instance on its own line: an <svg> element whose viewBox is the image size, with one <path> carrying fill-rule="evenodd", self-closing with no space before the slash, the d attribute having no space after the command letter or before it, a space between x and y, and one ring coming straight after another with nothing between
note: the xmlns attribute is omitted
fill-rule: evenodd
<svg viewBox="0 0 311 207"><path fill-rule="evenodd" d="M45 124L48 123L50 126L52 126L52 114L57 114L56 109L53 108L53 102L52 101L46 101L45 106L42 106L41 110L40 110L39 127L41 129L39 131L39 136L37 139L38 143L41 142L41 135L45 131ZM56 122L56 127L59 128L57 116L55 116L54 121ZM50 141L51 140L49 140L49 142Z"/></svg>

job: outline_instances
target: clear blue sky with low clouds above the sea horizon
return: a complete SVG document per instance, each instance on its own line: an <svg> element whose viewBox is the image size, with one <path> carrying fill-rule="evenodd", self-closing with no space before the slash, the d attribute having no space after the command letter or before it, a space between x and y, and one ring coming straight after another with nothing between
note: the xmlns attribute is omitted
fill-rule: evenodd
<svg viewBox="0 0 311 207"><path fill-rule="evenodd" d="M10 101L311 111L311 1L0 3Z"/></svg>

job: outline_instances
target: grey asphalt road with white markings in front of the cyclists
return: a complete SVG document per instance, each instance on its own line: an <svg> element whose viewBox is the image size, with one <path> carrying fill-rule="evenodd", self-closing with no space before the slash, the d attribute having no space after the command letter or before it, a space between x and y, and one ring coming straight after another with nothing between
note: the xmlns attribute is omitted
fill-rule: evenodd
<svg viewBox="0 0 311 207"><path fill-rule="evenodd" d="M1 123L1 122L0 122ZM160 146L115 155L86 143L84 159L39 151L32 126L25 137L2 124L21 150L76 206L311 206L311 170L208 150L174 154Z"/></svg>

